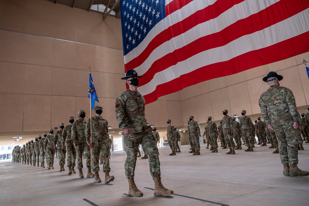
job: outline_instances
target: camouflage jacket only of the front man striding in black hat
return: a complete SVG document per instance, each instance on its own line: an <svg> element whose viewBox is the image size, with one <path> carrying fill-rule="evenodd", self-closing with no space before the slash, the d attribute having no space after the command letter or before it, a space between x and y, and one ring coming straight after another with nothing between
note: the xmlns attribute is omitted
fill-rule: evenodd
<svg viewBox="0 0 309 206"><path fill-rule="evenodd" d="M119 128L129 128L133 134L152 130L145 117L145 99L138 91L125 90L116 99L115 107Z"/></svg>

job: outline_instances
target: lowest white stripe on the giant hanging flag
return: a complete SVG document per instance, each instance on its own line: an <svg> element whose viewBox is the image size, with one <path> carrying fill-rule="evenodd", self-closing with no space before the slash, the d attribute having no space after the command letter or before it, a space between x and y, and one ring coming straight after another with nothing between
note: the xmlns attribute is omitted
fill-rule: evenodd
<svg viewBox="0 0 309 206"><path fill-rule="evenodd" d="M176 65L156 73L149 83L138 87L138 91L142 95L150 94L155 91L157 85L167 83L203 66L228 61L244 53L265 48L308 32L308 19L309 9L306 9L268 28L242 36L222 47L198 53L185 61L178 62ZM302 27L299 25L302 25Z"/></svg>

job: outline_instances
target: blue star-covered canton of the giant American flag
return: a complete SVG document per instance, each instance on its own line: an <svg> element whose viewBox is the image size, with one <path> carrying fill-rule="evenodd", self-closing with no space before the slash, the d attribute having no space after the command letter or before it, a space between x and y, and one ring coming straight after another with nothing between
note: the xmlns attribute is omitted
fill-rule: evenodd
<svg viewBox="0 0 309 206"><path fill-rule="evenodd" d="M123 53L126 55L165 18L165 0L121 0L120 8Z"/></svg>

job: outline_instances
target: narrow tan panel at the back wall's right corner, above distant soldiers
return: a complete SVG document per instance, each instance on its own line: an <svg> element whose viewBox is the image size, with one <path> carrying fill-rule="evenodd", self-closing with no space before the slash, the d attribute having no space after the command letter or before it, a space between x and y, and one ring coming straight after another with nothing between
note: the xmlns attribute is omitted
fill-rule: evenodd
<svg viewBox="0 0 309 206"><path fill-rule="evenodd" d="M183 126L180 101L167 101L168 119L171 119L175 127ZM166 125L167 126L167 125Z"/></svg>

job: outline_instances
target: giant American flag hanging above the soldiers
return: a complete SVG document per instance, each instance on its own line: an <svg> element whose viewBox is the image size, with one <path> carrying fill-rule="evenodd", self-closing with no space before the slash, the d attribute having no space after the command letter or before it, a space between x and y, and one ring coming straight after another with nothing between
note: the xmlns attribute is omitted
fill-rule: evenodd
<svg viewBox="0 0 309 206"><path fill-rule="evenodd" d="M121 0L125 72L160 96L309 51L308 0Z"/></svg>

